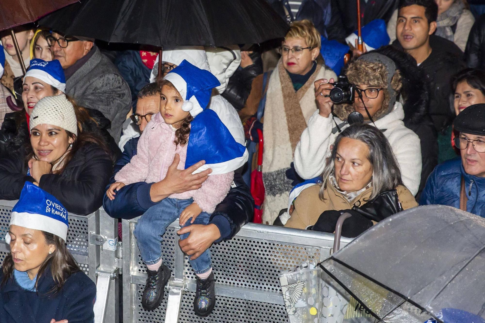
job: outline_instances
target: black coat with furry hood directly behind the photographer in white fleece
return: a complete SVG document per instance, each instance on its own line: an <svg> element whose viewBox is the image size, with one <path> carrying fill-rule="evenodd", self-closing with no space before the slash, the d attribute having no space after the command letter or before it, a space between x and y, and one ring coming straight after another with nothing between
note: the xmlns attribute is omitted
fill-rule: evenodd
<svg viewBox="0 0 485 323"><path fill-rule="evenodd" d="M392 46L384 46L375 51L391 58L401 72L404 126L413 130L420 137L421 143L421 182L416 194L416 199L419 201L426 179L438 163L437 133L428 113L430 101L428 87L423 71L416 65L411 55L396 50Z"/></svg>

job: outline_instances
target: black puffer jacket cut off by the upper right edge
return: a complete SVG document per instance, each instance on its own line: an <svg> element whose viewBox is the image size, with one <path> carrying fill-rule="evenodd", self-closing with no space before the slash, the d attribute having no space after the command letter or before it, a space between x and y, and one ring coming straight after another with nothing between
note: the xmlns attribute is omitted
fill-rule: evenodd
<svg viewBox="0 0 485 323"><path fill-rule="evenodd" d="M465 61L468 67L485 69L485 14L471 27L465 48Z"/></svg>

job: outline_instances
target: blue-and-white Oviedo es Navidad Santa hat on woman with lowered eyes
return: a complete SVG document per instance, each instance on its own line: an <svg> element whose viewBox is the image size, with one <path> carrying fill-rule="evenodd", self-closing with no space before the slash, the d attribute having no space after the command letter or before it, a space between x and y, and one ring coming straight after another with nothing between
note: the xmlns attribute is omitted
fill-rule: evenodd
<svg viewBox="0 0 485 323"><path fill-rule="evenodd" d="M47 193L31 182L25 182L20 198L12 209L10 226L23 226L29 229L42 230L67 238L67 210L53 195ZM10 235L5 235L10 243Z"/></svg>

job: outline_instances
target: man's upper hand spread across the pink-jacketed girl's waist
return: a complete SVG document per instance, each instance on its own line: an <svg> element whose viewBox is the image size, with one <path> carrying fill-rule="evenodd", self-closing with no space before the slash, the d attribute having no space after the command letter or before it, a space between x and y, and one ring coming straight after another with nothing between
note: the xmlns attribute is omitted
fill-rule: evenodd
<svg viewBox="0 0 485 323"><path fill-rule="evenodd" d="M150 187L150 199L152 202L160 202L170 194L183 193L197 190L202 187L202 183L212 173L211 169L192 175L192 173L205 161L199 161L187 169L177 169L180 156L175 154L174 162L168 167L167 175L161 181Z"/></svg>

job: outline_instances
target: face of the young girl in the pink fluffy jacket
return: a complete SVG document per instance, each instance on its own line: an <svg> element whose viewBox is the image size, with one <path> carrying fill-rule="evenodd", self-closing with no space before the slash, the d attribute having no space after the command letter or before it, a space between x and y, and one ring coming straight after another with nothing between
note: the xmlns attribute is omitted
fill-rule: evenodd
<svg viewBox="0 0 485 323"><path fill-rule="evenodd" d="M183 99L173 87L168 85L162 86L160 93L160 114L162 114L165 123L172 125L174 128L180 128L183 120L190 115L189 112L182 110Z"/></svg>

